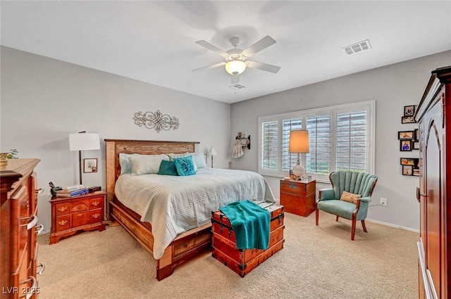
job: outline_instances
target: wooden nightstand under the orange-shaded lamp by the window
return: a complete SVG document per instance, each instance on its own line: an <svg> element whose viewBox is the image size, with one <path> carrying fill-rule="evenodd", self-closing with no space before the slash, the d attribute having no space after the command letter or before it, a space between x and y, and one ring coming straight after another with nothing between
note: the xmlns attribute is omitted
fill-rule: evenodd
<svg viewBox="0 0 451 299"><path fill-rule="evenodd" d="M315 210L316 181L280 181L280 205L285 212L307 217Z"/></svg>

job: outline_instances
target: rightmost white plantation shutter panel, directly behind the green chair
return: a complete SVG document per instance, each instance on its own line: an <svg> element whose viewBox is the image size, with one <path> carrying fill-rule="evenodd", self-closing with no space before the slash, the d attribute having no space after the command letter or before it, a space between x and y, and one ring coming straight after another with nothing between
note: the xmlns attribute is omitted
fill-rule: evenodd
<svg viewBox="0 0 451 299"><path fill-rule="evenodd" d="M366 110L337 113L336 170L366 172Z"/></svg>

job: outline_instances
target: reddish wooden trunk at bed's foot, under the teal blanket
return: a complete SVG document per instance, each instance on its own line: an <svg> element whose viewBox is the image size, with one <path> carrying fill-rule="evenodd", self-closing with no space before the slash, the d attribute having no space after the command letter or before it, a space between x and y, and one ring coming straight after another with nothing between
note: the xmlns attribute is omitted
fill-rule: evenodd
<svg viewBox="0 0 451 299"><path fill-rule="evenodd" d="M283 206L267 202L259 203L271 213L270 236L268 249L239 250L236 246L235 232L228 218L216 211L211 215L211 231L213 231L213 257L244 277L252 269L283 248Z"/></svg>

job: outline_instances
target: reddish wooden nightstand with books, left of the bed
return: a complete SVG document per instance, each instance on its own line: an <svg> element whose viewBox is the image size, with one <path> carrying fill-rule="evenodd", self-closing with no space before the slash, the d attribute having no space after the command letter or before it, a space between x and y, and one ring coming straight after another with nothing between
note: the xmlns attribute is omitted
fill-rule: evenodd
<svg viewBox="0 0 451 299"><path fill-rule="evenodd" d="M105 196L104 191L97 191L70 198L52 197L50 244L77 231L103 231Z"/></svg>

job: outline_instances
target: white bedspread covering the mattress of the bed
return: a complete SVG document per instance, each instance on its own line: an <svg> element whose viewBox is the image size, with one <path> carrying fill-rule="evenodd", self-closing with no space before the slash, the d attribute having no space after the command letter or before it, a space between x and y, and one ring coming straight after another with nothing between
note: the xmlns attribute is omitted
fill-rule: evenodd
<svg viewBox="0 0 451 299"><path fill-rule="evenodd" d="M187 177L122 174L115 193L142 222L152 224L156 260L178 234L209 223L211 211L251 198L274 202L266 179L257 172L208 167Z"/></svg>

